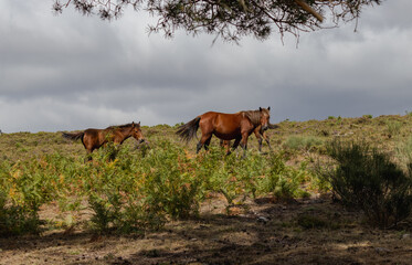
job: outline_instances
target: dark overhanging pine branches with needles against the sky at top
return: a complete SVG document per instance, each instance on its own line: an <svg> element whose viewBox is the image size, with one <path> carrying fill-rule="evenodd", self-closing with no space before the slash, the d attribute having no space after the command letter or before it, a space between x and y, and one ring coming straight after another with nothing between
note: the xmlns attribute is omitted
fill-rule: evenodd
<svg viewBox="0 0 412 265"><path fill-rule="evenodd" d="M267 39L274 31L281 36L338 26L358 20L363 7L381 0L54 0L61 13L73 6L83 14L98 14L103 20L119 18L131 6L158 18L150 32L172 36L182 29L190 34L205 32L226 41L242 36ZM325 25L324 17L328 18ZM329 23L330 22L330 23Z"/></svg>

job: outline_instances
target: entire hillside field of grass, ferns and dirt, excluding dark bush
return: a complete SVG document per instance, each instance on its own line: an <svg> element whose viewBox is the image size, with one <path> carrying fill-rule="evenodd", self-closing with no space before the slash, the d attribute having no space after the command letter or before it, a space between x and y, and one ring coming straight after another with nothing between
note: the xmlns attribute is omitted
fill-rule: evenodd
<svg viewBox="0 0 412 265"><path fill-rule="evenodd" d="M0 264L409 264L411 222L391 230L332 201L316 167L334 139L367 142L406 170L412 115L278 124L273 151L194 153L177 126L85 162L61 132L0 136ZM112 158L112 159L110 159Z"/></svg>

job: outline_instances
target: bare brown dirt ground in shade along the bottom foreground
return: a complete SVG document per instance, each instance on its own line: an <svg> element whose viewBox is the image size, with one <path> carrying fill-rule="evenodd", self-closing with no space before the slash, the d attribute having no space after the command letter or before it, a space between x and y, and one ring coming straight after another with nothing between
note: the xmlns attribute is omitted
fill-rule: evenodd
<svg viewBox="0 0 412 265"><path fill-rule="evenodd" d="M104 235L51 231L0 239L0 264L412 264L412 226L373 229L329 198L222 200L161 231Z"/></svg>

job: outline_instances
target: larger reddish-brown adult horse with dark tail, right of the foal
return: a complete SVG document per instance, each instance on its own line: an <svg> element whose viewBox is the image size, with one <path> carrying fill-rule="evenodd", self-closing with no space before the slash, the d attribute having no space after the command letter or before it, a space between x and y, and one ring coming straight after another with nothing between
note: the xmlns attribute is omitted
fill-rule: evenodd
<svg viewBox="0 0 412 265"><path fill-rule="evenodd" d="M209 112L202 114L189 123L180 126L178 131L183 140L190 141L200 127L202 137L197 146L197 153L202 147L208 150L212 136L216 136L222 140L234 139L233 149L239 145L244 149L244 155L247 148L247 138L257 126L266 129L270 125L271 107L258 108L258 110L239 112L235 114L224 114ZM255 125L257 124L257 126Z"/></svg>

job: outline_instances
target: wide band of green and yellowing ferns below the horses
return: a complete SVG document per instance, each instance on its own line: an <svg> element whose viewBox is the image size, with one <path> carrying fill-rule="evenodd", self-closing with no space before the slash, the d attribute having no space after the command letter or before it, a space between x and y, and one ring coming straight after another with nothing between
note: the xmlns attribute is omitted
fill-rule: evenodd
<svg viewBox="0 0 412 265"><path fill-rule="evenodd" d="M92 216L85 221L86 227L96 233L130 233L161 227L169 219L197 215L212 193L223 194L228 206L247 197L303 194L299 186L308 172L304 167L286 166L283 153L262 156L252 151L241 158L236 153L226 156L212 145L208 152L196 156L173 140L158 137L160 132L154 136L155 145L138 149L108 145L96 151L92 161L84 161L82 149L72 155L60 150L3 161L0 233L41 232L44 222L39 211L49 203L59 205L59 215L74 216L72 224L80 211L87 210ZM36 137L44 137L47 144L55 140L47 135Z"/></svg>

